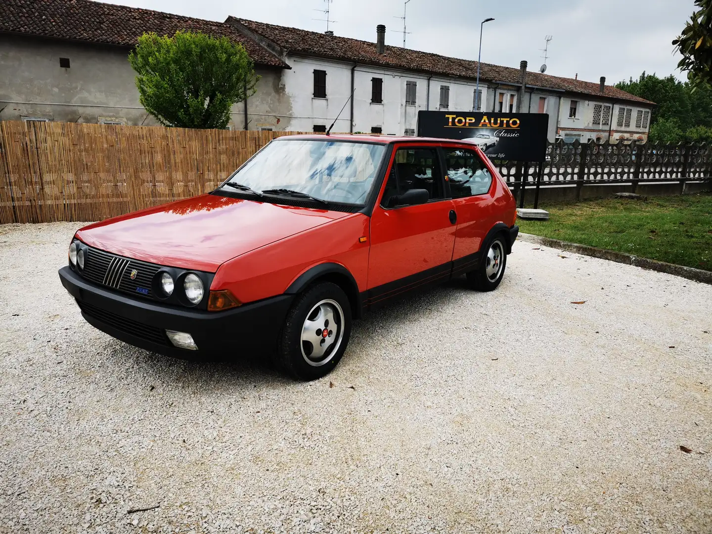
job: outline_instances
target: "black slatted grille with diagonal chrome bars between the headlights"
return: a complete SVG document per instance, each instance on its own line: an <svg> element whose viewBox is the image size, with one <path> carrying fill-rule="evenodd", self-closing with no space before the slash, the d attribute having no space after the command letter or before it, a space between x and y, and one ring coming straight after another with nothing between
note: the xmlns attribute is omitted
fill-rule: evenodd
<svg viewBox="0 0 712 534"><path fill-rule="evenodd" d="M161 266L89 248L82 276L112 289L153 298L151 283ZM136 271L135 274L133 271ZM131 275L134 274L134 278Z"/></svg>

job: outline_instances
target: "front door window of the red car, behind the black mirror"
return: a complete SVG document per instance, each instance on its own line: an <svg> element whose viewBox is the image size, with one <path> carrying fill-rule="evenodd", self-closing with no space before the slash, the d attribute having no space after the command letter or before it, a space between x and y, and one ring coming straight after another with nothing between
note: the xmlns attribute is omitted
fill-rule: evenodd
<svg viewBox="0 0 712 534"><path fill-rule="evenodd" d="M434 148L400 148L393 159L381 206L404 206L399 195L409 189L425 189L429 199L444 199L443 179L438 152Z"/></svg>

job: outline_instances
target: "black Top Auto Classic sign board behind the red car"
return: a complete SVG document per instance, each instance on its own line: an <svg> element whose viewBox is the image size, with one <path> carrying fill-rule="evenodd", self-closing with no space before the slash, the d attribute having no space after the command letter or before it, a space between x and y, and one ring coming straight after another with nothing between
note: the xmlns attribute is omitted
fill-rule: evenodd
<svg viewBox="0 0 712 534"><path fill-rule="evenodd" d="M549 115L419 111L419 137L460 139L476 143L492 159L543 162Z"/></svg>

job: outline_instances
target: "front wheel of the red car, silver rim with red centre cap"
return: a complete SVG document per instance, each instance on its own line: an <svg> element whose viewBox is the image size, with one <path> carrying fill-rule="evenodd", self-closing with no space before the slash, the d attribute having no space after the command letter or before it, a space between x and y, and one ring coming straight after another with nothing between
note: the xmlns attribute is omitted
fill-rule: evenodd
<svg viewBox="0 0 712 534"><path fill-rule="evenodd" d="M310 286L295 298L278 340L277 363L299 380L328 375L351 335L351 305L335 283Z"/></svg>

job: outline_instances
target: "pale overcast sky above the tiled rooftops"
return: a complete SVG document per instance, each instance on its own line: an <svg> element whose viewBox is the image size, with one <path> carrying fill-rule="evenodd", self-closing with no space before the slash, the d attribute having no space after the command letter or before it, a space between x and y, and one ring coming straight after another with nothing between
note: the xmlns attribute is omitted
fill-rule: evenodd
<svg viewBox="0 0 712 534"><path fill-rule="evenodd" d="M147 9L224 21L228 15L283 26L324 31L324 0L112 0ZM643 70L674 74L679 56L670 42L694 9L693 0L410 0L408 48L477 59L480 22L482 61L529 70L543 63L549 43L548 74L612 84L637 78ZM336 35L375 41L385 24L386 44L403 42L402 0L333 0L330 18ZM398 32L396 32L398 31Z"/></svg>

